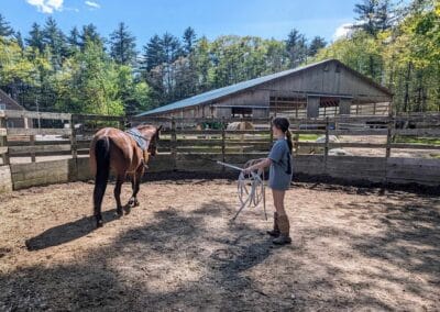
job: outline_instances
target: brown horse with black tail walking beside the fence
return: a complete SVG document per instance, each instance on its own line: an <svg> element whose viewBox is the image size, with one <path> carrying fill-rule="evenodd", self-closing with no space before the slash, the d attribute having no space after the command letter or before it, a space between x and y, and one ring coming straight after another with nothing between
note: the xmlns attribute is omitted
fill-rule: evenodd
<svg viewBox="0 0 440 312"><path fill-rule="evenodd" d="M105 127L98 131L90 145L90 166L95 175L94 212L97 227L102 226L101 204L106 192L110 169L117 177L114 186L114 199L117 201L117 213L121 216L121 186L125 177L130 175L133 189L128 207L139 205L136 199L140 182L144 174L148 155L155 156L158 135L162 126L140 125L135 127L138 140L144 141L146 151L142 151L132 135L114 127ZM145 153L145 154L144 154Z"/></svg>

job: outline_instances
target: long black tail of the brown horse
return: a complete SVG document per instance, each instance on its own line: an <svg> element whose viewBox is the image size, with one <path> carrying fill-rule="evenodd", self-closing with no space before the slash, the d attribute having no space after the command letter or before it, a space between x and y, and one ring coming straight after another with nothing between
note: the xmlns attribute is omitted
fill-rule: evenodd
<svg viewBox="0 0 440 312"><path fill-rule="evenodd" d="M102 224L101 204L110 175L110 140L105 136L95 144L96 176L94 190L94 209L97 225Z"/></svg>

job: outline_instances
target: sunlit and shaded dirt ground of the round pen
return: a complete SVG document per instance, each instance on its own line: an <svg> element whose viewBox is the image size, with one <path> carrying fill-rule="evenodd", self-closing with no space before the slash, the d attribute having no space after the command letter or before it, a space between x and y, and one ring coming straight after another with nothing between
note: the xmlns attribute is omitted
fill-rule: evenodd
<svg viewBox="0 0 440 312"><path fill-rule="evenodd" d="M1 311L440 310L438 197L295 183L273 247L262 209L229 222L234 181L143 183L119 220L108 189L99 230L92 187L1 196Z"/></svg>

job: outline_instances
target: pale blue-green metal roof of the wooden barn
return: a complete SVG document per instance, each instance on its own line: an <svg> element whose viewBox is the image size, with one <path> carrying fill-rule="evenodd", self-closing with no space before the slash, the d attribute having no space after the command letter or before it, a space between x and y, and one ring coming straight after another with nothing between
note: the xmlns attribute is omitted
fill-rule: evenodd
<svg viewBox="0 0 440 312"><path fill-rule="evenodd" d="M345 68L349 68L352 71L355 71L355 70L351 69L350 67L345 66L344 64L342 64L341 62L339 62L337 59L326 59L326 60L322 60L322 62L309 64L309 65L306 65L306 66L302 66L302 67L298 67L298 68L295 68L295 69L288 69L288 70L279 71L279 73L276 73L276 74L263 76L263 77L260 77L260 78L242 81L242 82L239 82L239 83L235 83L235 85L231 85L231 86L228 86L228 87L223 87L223 88L220 88L220 89L215 89L215 90L211 90L211 91L208 91L208 92L205 92L205 93L200 93L200 94L194 96L191 98L187 98L187 99L184 99L184 100L180 100L180 101L177 101L177 102L164 105L164 107L160 107L160 108L156 108L156 109L140 113L140 114L138 114L138 116L157 114L157 113L162 113L162 112L174 111L174 110L177 110L177 109L184 109L184 108L188 108L188 107L199 105L199 104L202 104L202 103L209 103L209 102L211 102L213 100L217 100L217 99L220 99L220 98L223 98L223 97L227 97L227 96L230 96L230 94L233 94L233 93L237 93L237 92L240 92L240 91L253 88L253 87L256 87L256 86L262 85L264 82L267 82L267 81L271 81L271 80L274 80L274 79L278 79L278 78L282 78L282 77L286 77L286 76L292 75L294 73L302 71L302 70L319 66L321 64L331 63L331 62L337 62L337 63L341 64L342 66L344 66ZM361 75L360 73L358 73L358 71L355 71L355 73L359 76L362 76L363 78L366 78L363 75ZM366 79L369 79L369 78L366 78ZM373 80L371 80L369 82L374 83L375 87L378 87L381 89L385 89L382 86L375 83ZM386 90L386 91L389 92L388 90Z"/></svg>

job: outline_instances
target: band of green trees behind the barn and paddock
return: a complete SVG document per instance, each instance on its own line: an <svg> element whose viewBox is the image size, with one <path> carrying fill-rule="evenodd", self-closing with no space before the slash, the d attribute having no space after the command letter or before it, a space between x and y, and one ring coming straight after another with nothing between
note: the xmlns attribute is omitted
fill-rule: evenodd
<svg viewBox="0 0 440 312"><path fill-rule="evenodd" d="M124 23L109 49L94 24L65 35L54 19L24 37L0 14L0 88L26 109L136 114L208 90L327 58L338 58L394 93L395 111L440 111L440 4L360 0L349 37L310 42L256 36L155 35L136 56Z"/></svg>

